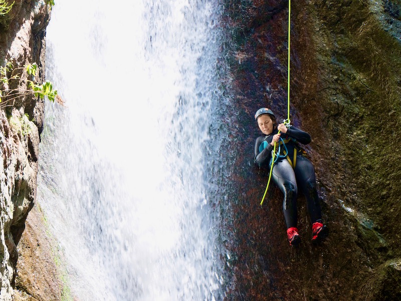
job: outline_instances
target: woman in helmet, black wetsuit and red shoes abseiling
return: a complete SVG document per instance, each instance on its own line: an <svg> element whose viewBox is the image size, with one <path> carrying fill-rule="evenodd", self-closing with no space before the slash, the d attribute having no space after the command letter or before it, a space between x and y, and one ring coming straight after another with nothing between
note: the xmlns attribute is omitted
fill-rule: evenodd
<svg viewBox="0 0 401 301"><path fill-rule="evenodd" d="M284 194L283 211L287 225L287 236L291 246L301 242L297 229L298 188L306 197L307 210L312 224L312 242L317 243L329 234L322 223L322 214L316 190L316 177L312 163L298 145L308 144L311 137L295 126L277 125L276 116L268 108L260 108L255 120L263 135L256 139L255 164L259 167L273 164L273 182ZM276 143L278 154L273 156ZM273 157L275 162L273 161Z"/></svg>

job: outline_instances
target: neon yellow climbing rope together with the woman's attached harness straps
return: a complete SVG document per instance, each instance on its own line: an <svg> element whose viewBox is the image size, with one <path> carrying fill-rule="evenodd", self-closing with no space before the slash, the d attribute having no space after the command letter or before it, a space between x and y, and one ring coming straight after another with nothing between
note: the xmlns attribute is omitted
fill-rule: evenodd
<svg viewBox="0 0 401 301"><path fill-rule="evenodd" d="M291 125L291 120L290 120L290 41L291 41L291 0L288 0L288 77L287 77L287 119L284 120L284 125L288 128ZM278 131L278 134L280 133L280 131ZM283 139L280 137L280 139L283 141ZM281 143L281 141L280 141ZM279 150L278 150L278 154L277 154L277 158L276 157L276 142L274 142L274 148L273 148L273 156L272 156L272 163L270 165L270 174L269 174L269 180L267 181L267 186L266 186L266 190L265 193L263 195L262 198L262 202L260 202L260 205L263 205L263 201L265 200L266 194L267 194L267 190L269 189L269 184L270 184L270 180L272 178L272 172L273 172L273 166L276 163L276 161L278 160L279 156L280 156L280 143L279 143ZM285 143L283 141L283 144L285 146ZM285 147L287 148L287 147ZM295 163L296 163L296 148L294 150L294 161L293 163L291 163L291 160L289 160L291 166L294 168L295 167ZM288 159L288 151L286 152L286 154L284 155L285 157L287 157Z"/></svg>

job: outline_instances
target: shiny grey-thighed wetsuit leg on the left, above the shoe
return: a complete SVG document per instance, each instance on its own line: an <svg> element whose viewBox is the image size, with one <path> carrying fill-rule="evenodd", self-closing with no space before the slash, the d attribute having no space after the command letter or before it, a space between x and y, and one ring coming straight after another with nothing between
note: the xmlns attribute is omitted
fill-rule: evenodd
<svg viewBox="0 0 401 301"><path fill-rule="evenodd" d="M272 178L284 194L283 211L287 229L297 226L297 181L287 160L274 164Z"/></svg>

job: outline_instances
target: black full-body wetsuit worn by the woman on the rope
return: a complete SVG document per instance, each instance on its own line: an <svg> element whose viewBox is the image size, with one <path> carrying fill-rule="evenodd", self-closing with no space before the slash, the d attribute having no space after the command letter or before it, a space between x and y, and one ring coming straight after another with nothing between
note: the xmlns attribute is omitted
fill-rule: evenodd
<svg viewBox="0 0 401 301"><path fill-rule="evenodd" d="M270 167L274 148L270 142L272 142L273 135L277 134L277 132L278 130L275 129L270 135L260 136L256 139L255 163L260 167ZM288 159L290 159L291 164L287 158L279 157L273 166L272 178L284 194L283 210L287 228L297 227L298 187L306 197L311 223L321 222L322 216L316 191L315 170L312 163L302 154L301 148L297 143L299 141L302 144L308 144L311 141L311 137L307 132L291 126L286 133L281 133L281 138L286 142ZM278 144L276 143L276 151L278 150ZM265 148L263 149L263 147ZM283 149L284 146L281 145L281 155L284 155ZM296 158L294 158L294 153ZM294 161L296 161L295 168L291 166Z"/></svg>

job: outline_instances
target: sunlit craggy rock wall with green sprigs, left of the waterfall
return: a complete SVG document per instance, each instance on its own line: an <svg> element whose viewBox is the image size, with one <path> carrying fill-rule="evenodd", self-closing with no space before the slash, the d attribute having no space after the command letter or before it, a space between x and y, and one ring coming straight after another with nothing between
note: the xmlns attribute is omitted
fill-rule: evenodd
<svg viewBox="0 0 401 301"><path fill-rule="evenodd" d="M45 28L49 7L44 1L16 0L12 11L0 22L1 64L12 62L17 80L9 89L23 91L27 85L25 65L36 62L36 80L44 79ZM21 69L18 69L20 68ZM20 70L20 71L16 71ZM0 299L14 295L17 245L25 229L25 220L34 206L38 174L39 134L43 127L43 101L33 97L3 99L0 111Z"/></svg>

